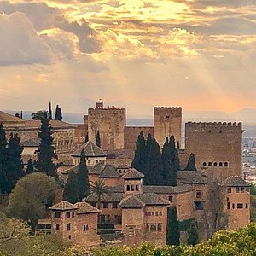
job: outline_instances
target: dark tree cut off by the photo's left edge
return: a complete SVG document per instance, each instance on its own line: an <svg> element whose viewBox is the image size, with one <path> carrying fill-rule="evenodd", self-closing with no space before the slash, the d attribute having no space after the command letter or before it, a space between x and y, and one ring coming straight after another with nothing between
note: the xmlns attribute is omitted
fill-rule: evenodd
<svg viewBox="0 0 256 256"><path fill-rule="evenodd" d="M7 148L7 140L3 124L0 123L0 189L1 194L5 195L9 192L9 183L7 179L7 166L9 162L9 152Z"/></svg>

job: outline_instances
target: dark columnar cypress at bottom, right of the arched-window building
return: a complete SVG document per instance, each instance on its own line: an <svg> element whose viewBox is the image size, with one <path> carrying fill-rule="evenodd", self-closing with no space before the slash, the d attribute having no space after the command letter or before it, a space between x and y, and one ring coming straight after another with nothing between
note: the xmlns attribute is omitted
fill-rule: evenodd
<svg viewBox="0 0 256 256"><path fill-rule="evenodd" d="M168 207L166 244L178 246L179 238L180 238L180 234L179 234L179 224L177 220L177 208Z"/></svg>

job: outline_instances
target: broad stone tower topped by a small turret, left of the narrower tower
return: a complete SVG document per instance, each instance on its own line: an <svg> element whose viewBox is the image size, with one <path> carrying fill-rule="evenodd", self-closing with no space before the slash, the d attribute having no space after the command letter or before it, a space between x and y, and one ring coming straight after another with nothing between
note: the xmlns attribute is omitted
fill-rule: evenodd
<svg viewBox="0 0 256 256"><path fill-rule="evenodd" d="M96 141L100 132L101 146L105 150L121 149L125 146L125 108L104 108L103 102L96 102L96 108L88 109L88 134L90 141Z"/></svg>

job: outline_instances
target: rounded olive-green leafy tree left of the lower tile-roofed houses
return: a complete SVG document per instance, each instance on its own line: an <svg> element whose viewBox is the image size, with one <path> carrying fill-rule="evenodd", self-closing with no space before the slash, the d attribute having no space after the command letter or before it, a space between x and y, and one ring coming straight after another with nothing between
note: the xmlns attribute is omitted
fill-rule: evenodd
<svg viewBox="0 0 256 256"><path fill-rule="evenodd" d="M43 218L46 206L52 200L56 189L53 177L36 172L22 177L9 197L8 212L13 218L23 219L35 234L38 219Z"/></svg>

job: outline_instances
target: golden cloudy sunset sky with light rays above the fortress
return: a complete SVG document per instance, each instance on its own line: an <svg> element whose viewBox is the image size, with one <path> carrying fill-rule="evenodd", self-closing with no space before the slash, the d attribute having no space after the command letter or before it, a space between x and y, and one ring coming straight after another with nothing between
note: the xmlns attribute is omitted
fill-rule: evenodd
<svg viewBox="0 0 256 256"><path fill-rule="evenodd" d="M0 0L0 109L256 108L256 0Z"/></svg>

